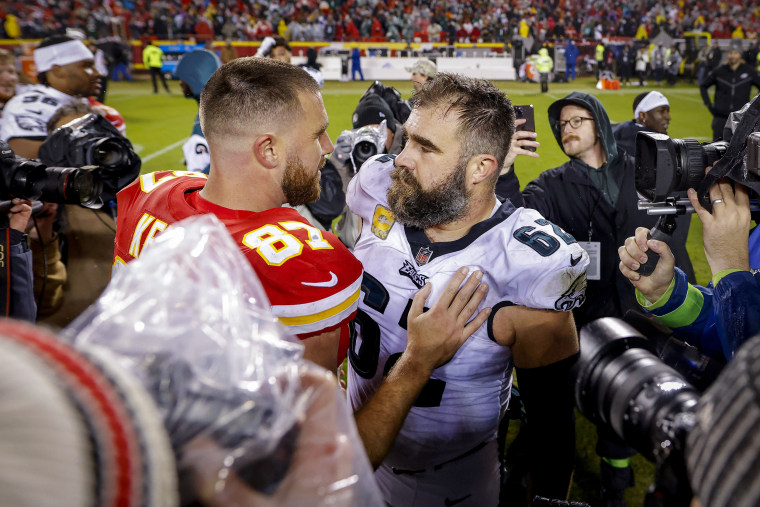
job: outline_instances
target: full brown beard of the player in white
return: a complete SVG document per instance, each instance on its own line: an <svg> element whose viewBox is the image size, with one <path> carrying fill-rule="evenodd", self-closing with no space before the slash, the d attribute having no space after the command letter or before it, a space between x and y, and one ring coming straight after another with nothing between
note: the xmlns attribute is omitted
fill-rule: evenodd
<svg viewBox="0 0 760 507"><path fill-rule="evenodd" d="M424 230L462 218L470 200L466 169L467 162L460 162L454 172L430 190L424 190L406 168L393 169L387 196L396 220Z"/></svg>

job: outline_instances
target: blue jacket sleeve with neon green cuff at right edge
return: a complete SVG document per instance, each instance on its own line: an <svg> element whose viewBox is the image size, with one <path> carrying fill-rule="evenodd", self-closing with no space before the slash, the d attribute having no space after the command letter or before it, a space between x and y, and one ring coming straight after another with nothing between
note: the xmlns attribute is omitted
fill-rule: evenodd
<svg viewBox="0 0 760 507"><path fill-rule="evenodd" d="M750 266L753 271L725 275L713 287L691 285L676 268L670 297L657 308L645 307L659 322L673 329L676 337L704 353L731 360L741 345L760 333L760 227L750 235ZM637 292L639 303L645 302ZM656 304L656 303L655 303ZM654 306L654 305L652 305Z"/></svg>

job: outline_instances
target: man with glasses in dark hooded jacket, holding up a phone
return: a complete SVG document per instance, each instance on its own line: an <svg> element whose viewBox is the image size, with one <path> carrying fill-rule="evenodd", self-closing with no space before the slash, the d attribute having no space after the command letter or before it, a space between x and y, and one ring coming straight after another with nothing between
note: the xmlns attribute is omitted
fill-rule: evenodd
<svg viewBox="0 0 760 507"><path fill-rule="evenodd" d="M630 283L618 269L617 249L637 227L651 228L656 217L637 208L634 159L618 149L604 106L573 92L549 106L549 124L570 160L544 171L523 190L525 205L570 233L589 254L586 301L573 313L578 329L600 317L622 317L638 309ZM676 264L691 270L685 244L674 244ZM633 451L601 435L604 505L624 505L633 484Z"/></svg>

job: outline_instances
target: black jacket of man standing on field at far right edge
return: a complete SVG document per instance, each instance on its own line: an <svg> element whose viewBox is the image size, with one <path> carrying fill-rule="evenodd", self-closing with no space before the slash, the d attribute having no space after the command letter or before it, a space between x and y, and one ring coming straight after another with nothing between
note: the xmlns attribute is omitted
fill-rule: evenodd
<svg viewBox="0 0 760 507"><path fill-rule="evenodd" d="M731 70L728 64L721 65L699 83L702 101L713 114L727 118L749 102L752 86L760 90L760 77L751 66L740 64ZM715 86L715 99L711 102L707 90Z"/></svg>

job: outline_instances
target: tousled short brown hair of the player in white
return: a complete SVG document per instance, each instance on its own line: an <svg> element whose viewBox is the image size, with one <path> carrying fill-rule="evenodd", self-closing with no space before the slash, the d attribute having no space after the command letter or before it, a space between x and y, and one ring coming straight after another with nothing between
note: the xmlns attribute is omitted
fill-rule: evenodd
<svg viewBox="0 0 760 507"><path fill-rule="evenodd" d="M439 72L412 100L416 109L443 107L444 114L456 114L460 159L489 154L501 169L515 133L515 111L504 92L484 79Z"/></svg>

